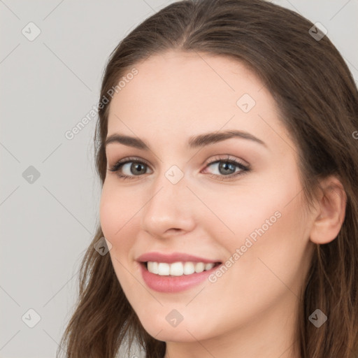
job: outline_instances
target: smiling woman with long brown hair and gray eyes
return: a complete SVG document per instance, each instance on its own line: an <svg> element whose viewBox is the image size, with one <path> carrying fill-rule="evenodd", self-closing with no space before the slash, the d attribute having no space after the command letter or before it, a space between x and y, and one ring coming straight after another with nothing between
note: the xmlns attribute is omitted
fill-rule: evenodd
<svg viewBox="0 0 358 358"><path fill-rule="evenodd" d="M189 0L141 23L103 76L101 225L67 357L127 340L148 358L357 357L357 130L348 67L290 10Z"/></svg>

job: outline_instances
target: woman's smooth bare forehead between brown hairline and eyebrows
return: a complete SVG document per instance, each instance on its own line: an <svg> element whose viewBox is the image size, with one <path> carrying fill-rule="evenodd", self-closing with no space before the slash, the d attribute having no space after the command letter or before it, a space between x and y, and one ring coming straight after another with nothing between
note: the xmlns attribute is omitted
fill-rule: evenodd
<svg viewBox="0 0 358 358"><path fill-rule="evenodd" d="M174 138L235 128L277 139L267 124L280 126L275 101L242 62L170 51L134 67L138 73L110 103L108 135Z"/></svg>

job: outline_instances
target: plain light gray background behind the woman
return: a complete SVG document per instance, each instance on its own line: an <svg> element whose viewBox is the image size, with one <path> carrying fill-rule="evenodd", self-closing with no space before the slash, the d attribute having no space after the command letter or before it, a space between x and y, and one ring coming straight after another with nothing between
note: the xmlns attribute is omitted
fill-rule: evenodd
<svg viewBox="0 0 358 358"><path fill-rule="evenodd" d="M2 358L55 357L101 193L96 117L72 140L64 134L96 106L115 45L172 2L0 0ZM273 2L321 22L357 83L358 0ZM41 29L34 41L22 34L35 33L29 22ZM30 308L41 316L33 328Z"/></svg>

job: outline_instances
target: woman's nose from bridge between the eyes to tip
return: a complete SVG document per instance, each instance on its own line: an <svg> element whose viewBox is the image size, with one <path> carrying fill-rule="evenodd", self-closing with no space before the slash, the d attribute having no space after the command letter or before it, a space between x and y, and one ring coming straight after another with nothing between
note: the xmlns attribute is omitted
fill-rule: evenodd
<svg viewBox="0 0 358 358"><path fill-rule="evenodd" d="M145 231L162 236L168 229L190 230L194 223L184 173L171 166L155 178L148 202L143 208L142 226Z"/></svg>

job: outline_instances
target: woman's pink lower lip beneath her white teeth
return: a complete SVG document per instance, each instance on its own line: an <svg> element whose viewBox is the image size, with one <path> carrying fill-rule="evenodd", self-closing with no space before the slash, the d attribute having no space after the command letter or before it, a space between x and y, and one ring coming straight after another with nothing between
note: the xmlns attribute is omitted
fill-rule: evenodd
<svg viewBox="0 0 358 358"><path fill-rule="evenodd" d="M160 276L149 272L145 267L145 264L141 263L140 266L143 280L149 288L158 292L170 293L181 292L185 289L194 287L195 285L199 285L199 283L206 280L206 278L219 267L219 265L217 265L208 271L193 273L192 275Z"/></svg>

